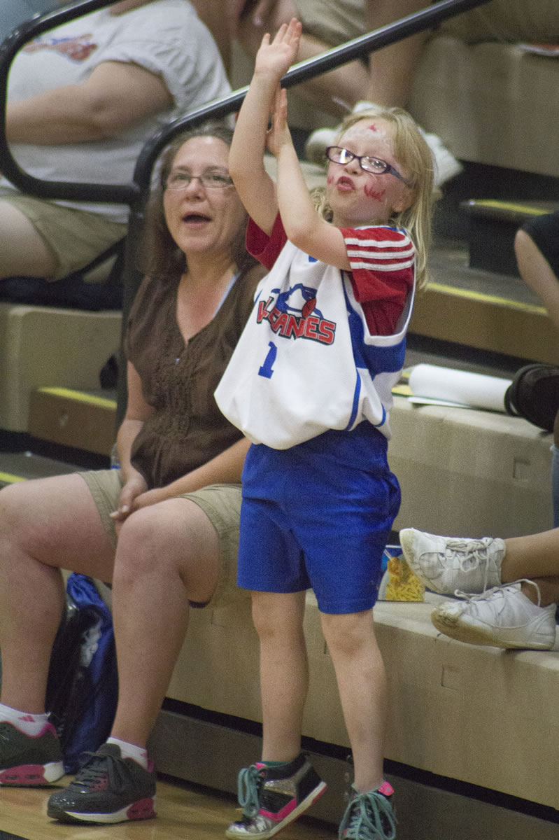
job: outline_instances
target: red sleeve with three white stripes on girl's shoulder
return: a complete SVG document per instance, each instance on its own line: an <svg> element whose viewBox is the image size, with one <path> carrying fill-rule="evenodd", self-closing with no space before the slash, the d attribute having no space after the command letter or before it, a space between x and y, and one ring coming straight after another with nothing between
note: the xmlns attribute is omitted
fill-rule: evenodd
<svg viewBox="0 0 559 840"><path fill-rule="evenodd" d="M341 228L355 299L373 335L394 333L414 283L415 248L397 228Z"/></svg>

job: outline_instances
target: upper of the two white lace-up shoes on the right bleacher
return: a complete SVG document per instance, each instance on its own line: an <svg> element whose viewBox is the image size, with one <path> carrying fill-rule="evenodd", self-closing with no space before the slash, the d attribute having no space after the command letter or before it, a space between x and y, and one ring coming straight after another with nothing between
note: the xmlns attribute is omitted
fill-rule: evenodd
<svg viewBox="0 0 559 840"><path fill-rule="evenodd" d="M479 593L501 583L502 539L439 537L402 528L400 545L410 569L431 591Z"/></svg>

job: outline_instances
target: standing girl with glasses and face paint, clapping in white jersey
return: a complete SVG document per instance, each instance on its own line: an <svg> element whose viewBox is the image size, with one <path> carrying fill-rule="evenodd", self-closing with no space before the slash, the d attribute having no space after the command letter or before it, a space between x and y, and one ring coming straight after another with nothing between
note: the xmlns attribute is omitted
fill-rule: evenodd
<svg viewBox="0 0 559 840"><path fill-rule="evenodd" d="M384 664L373 606L400 505L386 451L415 289L426 281L431 153L397 108L353 114L313 202L280 79L300 24L265 35L229 171L248 249L269 269L217 402L251 440L243 470L238 585L260 639L262 759L239 775L230 838L272 837L326 785L300 753L308 683L303 615L314 590L355 769L340 837L395 837L384 780ZM268 128L271 114L271 127ZM277 183L264 169L266 147Z"/></svg>

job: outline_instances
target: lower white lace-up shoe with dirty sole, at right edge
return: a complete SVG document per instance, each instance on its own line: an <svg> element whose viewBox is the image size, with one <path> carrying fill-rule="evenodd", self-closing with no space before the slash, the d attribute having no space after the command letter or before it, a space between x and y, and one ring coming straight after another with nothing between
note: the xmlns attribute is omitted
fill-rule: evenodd
<svg viewBox="0 0 559 840"><path fill-rule="evenodd" d="M538 606L520 591L520 580L497 586L484 595L462 596L465 601L445 601L431 612L440 633L459 642L494 648L550 650L555 644L556 604Z"/></svg>

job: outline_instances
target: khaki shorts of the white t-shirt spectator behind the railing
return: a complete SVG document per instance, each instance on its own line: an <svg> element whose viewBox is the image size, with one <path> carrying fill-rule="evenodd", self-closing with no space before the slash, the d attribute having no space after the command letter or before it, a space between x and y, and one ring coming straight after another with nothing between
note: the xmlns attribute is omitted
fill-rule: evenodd
<svg viewBox="0 0 559 840"><path fill-rule="evenodd" d="M0 206L2 202L24 213L55 255L59 267L52 280L61 280L88 265L128 230L127 223L112 222L100 213L14 194L12 190L0 190Z"/></svg>

